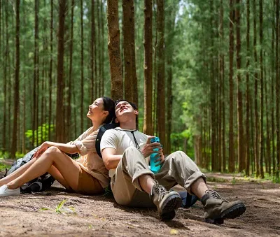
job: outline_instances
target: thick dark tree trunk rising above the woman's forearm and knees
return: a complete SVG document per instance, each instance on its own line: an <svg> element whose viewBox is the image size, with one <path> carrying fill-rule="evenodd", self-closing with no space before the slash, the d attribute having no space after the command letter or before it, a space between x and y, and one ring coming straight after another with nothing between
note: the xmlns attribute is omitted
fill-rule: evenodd
<svg viewBox="0 0 280 237"><path fill-rule="evenodd" d="M66 13L66 0L59 0L59 24L57 43L57 109L56 109L56 141L64 143L64 113L63 93L64 93L64 23Z"/></svg>

